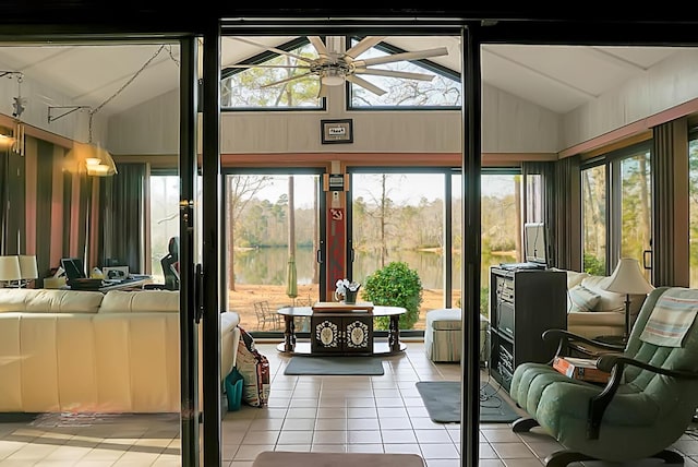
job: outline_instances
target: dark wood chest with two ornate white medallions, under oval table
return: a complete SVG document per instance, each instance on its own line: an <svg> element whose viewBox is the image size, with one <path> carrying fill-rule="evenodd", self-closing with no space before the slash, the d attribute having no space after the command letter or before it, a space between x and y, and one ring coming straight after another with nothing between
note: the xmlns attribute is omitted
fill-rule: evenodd
<svg viewBox="0 0 698 467"><path fill-rule="evenodd" d="M311 316L312 354L373 354L372 313L316 313Z"/></svg>

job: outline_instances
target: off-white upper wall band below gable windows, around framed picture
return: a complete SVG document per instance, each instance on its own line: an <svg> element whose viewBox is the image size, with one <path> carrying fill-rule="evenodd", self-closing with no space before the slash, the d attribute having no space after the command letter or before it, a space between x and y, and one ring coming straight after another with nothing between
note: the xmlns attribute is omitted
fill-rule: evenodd
<svg viewBox="0 0 698 467"><path fill-rule="evenodd" d="M221 152L459 153L460 111L346 111L341 88L326 111L225 112ZM168 93L109 119L107 146L119 154L176 154L178 93ZM321 120L353 120L353 144L321 143ZM483 151L556 152L557 116L491 86L483 89Z"/></svg>

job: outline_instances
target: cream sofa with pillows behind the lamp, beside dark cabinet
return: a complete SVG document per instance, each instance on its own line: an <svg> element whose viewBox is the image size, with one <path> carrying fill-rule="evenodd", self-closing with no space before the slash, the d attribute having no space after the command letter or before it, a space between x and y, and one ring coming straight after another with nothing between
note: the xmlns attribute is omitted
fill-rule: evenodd
<svg viewBox="0 0 698 467"><path fill-rule="evenodd" d="M605 290L609 276L567 273L567 330L585 337L621 336L625 332L624 294ZM630 326L647 296L630 296Z"/></svg>

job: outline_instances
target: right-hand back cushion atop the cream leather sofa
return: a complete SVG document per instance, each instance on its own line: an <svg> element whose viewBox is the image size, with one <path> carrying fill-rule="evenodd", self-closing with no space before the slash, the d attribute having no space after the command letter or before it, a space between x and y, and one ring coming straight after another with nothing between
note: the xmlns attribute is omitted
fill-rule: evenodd
<svg viewBox="0 0 698 467"><path fill-rule="evenodd" d="M109 290L100 313L178 313L179 290Z"/></svg>

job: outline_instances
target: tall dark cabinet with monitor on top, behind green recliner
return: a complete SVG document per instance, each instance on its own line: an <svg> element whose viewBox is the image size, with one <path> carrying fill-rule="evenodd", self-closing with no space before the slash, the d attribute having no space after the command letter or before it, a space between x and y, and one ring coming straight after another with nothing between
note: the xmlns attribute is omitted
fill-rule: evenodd
<svg viewBox="0 0 698 467"><path fill-rule="evenodd" d="M550 328L567 328L567 275L551 270L490 270L490 373L508 392L519 363L549 362Z"/></svg>

